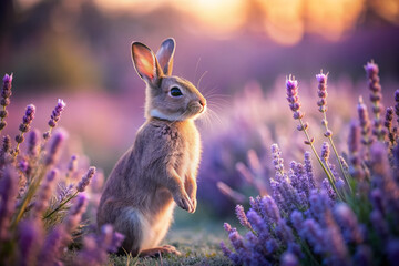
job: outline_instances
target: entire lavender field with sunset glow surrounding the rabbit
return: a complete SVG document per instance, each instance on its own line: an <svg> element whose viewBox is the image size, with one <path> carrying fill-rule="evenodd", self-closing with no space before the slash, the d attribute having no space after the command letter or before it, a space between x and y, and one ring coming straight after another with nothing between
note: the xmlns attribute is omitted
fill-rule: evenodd
<svg viewBox="0 0 399 266"><path fill-rule="evenodd" d="M399 4L0 3L0 265L397 265ZM162 245L96 225L144 123L130 47L173 37L206 98L197 208Z"/></svg>

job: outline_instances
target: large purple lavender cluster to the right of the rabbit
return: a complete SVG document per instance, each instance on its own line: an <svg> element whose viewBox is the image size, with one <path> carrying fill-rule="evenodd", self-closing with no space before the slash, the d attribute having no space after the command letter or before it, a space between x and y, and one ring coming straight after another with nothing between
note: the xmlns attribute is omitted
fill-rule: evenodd
<svg viewBox="0 0 399 266"><path fill-rule="evenodd" d="M374 113L378 116L381 99L378 66L369 63L366 71L375 92ZM325 89L327 76L317 79L319 90ZM297 82L289 79L286 86L289 108L298 112ZM319 103L324 106L326 102ZM327 178L317 178L321 182L316 181L309 152L305 152L304 163L291 162L284 172L282 152L273 144L276 174L268 177L270 196L250 197L247 213L241 205L236 207L236 215L248 232L241 235L225 224L231 245L221 244L224 255L236 265L397 265L399 139L393 113L393 108L387 109L385 126L390 135L375 133L378 141L374 141L371 130L381 129L377 120L371 125L360 99L359 121L350 123L349 153L340 156L335 151L346 182L329 162L327 142L323 143L320 156L314 151L326 170ZM399 121L399 112L396 114ZM335 150L332 143L331 147Z"/></svg>

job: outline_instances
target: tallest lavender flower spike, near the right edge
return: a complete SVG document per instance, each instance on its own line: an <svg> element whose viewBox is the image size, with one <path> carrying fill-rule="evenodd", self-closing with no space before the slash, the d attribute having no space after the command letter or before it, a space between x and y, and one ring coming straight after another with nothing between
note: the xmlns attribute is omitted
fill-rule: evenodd
<svg viewBox="0 0 399 266"><path fill-rule="evenodd" d="M371 91L370 101L374 104L372 112L375 113L375 121L374 121L375 130L372 131L372 134L376 135L380 141L382 141L385 132L382 130L382 120L380 117L382 111L382 105L380 103L382 101L382 94L381 94L381 85L379 83L379 76L378 76L379 69L378 65L375 64L374 61L371 60L371 62L368 62L365 65L365 70L367 73L368 86Z"/></svg>

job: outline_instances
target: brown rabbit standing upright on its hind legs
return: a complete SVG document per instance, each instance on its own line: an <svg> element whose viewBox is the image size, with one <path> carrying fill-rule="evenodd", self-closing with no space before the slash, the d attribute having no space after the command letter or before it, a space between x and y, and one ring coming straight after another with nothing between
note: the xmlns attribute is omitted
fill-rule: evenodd
<svg viewBox="0 0 399 266"><path fill-rule="evenodd" d="M112 170L98 209L99 228L112 224L133 256L180 253L160 246L175 205L194 213L202 146L194 124L206 100L187 80L172 75L175 40L166 39L156 55L132 43L132 61L145 82L145 122L134 144Z"/></svg>

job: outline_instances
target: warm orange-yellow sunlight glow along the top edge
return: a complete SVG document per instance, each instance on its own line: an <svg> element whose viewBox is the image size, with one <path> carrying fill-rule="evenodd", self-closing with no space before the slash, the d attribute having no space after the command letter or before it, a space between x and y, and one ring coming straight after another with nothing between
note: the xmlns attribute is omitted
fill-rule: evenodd
<svg viewBox="0 0 399 266"><path fill-rule="evenodd" d="M16 0L29 9L42 0ZM74 0L80 6L88 0ZM182 27L196 34L225 39L241 32L267 34L283 45L298 43L306 33L338 41L365 12L366 0L92 0L109 14L146 14L166 9L181 16ZM65 1L66 2L66 1ZM72 2L72 1L69 1ZM368 1L372 11L399 24L398 0ZM61 24L59 28L62 28Z"/></svg>

